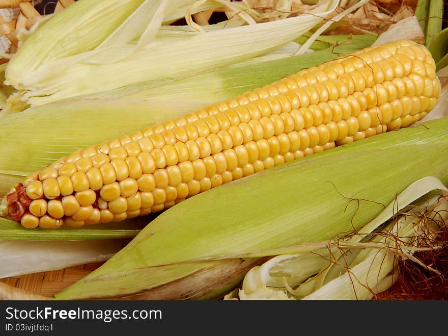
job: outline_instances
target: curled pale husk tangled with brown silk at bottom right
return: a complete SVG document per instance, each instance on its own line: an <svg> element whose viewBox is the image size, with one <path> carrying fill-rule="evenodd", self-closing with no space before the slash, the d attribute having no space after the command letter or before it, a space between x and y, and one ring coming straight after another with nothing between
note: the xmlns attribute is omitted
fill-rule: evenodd
<svg viewBox="0 0 448 336"><path fill-rule="evenodd" d="M418 263L414 251L440 247L434 238L448 219L447 196L439 179L419 179L356 234L289 248L251 269L226 299L370 300L399 278L399 257Z"/></svg>

